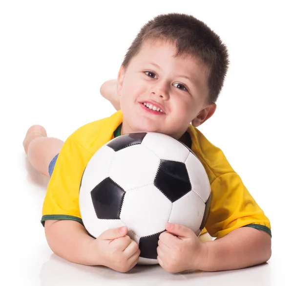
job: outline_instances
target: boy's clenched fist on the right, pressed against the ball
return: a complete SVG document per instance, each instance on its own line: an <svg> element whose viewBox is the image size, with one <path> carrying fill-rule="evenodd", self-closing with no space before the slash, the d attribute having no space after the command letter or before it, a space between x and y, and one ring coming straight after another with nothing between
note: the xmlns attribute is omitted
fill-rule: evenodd
<svg viewBox="0 0 293 286"><path fill-rule="evenodd" d="M195 233L180 224L167 223L159 236L158 262L168 272L200 269L207 260L207 247Z"/></svg>

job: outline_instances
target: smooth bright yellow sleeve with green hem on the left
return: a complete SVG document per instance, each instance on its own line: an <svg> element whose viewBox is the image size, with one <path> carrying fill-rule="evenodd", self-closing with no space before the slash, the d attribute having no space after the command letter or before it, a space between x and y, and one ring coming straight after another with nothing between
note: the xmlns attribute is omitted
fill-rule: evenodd
<svg viewBox="0 0 293 286"><path fill-rule="evenodd" d="M76 220L82 223L79 189L84 168L91 156L70 137L64 142L44 198L43 225L45 220Z"/></svg>

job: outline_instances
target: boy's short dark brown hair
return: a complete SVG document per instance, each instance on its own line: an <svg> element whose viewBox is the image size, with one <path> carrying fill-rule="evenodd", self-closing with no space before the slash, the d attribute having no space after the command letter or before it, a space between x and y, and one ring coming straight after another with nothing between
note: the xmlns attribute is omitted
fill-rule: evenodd
<svg viewBox="0 0 293 286"><path fill-rule="evenodd" d="M156 16L141 28L128 48L122 63L124 67L127 68L148 39L170 41L176 44L176 55L189 54L200 59L209 69L209 103L216 102L228 71L229 56L226 45L207 24L186 14Z"/></svg>

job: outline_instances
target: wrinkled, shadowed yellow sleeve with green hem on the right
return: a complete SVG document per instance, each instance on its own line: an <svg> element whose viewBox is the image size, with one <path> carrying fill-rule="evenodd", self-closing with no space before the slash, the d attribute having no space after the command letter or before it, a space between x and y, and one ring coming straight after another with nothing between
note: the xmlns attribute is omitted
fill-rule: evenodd
<svg viewBox="0 0 293 286"><path fill-rule="evenodd" d="M236 173L217 177L211 183L211 192L206 229L212 237L221 238L243 226L264 230L272 236L270 220Z"/></svg>

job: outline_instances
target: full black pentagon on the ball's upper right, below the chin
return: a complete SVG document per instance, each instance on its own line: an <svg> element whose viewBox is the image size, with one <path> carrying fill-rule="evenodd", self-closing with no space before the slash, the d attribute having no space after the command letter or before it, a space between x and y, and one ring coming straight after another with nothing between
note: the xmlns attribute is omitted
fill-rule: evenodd
<svg viewBox="0 0 293 286"><path fill-rule="evenodd" d="M154 185L171 202L183 197L191 190L186 165L182 162L161 160Z"/></svg>

